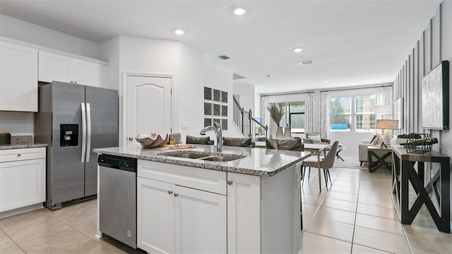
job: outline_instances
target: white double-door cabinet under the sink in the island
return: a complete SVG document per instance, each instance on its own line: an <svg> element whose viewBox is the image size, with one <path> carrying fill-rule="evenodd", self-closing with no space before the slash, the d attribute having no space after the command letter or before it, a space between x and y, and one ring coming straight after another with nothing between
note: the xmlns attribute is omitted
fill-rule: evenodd
<svg viewBox="0 0 452 254"><path fill-rule="evenodd" d="M138 176L140 169L138 160ZM189 176L189 169L181 176ZM137 183L138 248L148 253L227 252L226 195L143 177Z"/></svg>

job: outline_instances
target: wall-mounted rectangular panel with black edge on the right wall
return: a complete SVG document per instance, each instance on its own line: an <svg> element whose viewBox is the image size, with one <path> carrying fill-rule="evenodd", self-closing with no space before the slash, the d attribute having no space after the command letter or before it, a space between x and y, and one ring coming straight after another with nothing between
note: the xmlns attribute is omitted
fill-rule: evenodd
<svg viewBox="0 0 452 254"><path fill-rule="evenodd" d="M422 128L449 129L448 61L441 61L422 78Z"/></svg>

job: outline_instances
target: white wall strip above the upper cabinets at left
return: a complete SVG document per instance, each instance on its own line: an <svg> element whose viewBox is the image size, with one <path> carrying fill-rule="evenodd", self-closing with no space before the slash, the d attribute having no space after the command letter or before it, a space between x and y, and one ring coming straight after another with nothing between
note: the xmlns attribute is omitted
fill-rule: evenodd
<svg viewBox="0 0 452 254"><path fill-rule="evenodd" d="M100 44L1 14L0 35L93 59L100 59Z"/></svg>

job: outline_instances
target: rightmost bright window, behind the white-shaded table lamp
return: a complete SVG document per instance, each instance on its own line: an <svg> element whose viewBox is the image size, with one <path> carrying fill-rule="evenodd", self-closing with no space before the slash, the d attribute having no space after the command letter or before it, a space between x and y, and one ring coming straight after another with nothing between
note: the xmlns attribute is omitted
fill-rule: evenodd
<svg viewBox="0 0 452 254"><path fill-rule="evenodd" d="M374 131L376 95L355 97L355 130Z"/></svg>

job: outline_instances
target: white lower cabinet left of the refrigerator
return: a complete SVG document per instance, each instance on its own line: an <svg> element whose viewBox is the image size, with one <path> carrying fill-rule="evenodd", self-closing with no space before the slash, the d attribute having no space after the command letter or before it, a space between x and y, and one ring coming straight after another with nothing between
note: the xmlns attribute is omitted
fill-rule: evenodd
<svg viewBox="0 0 452 254"><path fill-rule="evenodd" d="M0 212L45 201L45 147L0 150ZM20 213L20 212L16 212Z"/></svg>

